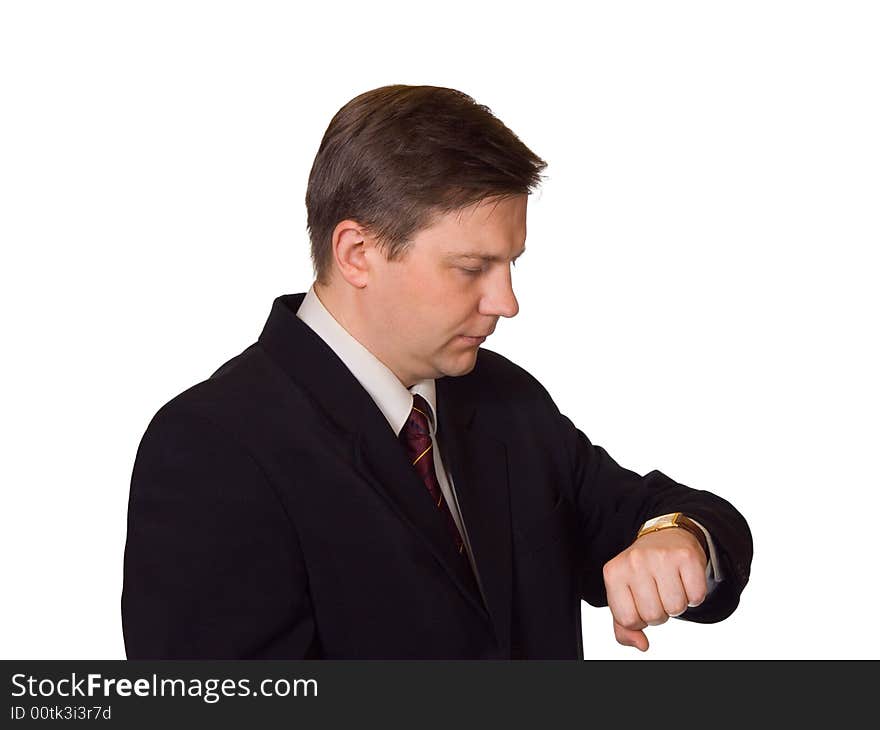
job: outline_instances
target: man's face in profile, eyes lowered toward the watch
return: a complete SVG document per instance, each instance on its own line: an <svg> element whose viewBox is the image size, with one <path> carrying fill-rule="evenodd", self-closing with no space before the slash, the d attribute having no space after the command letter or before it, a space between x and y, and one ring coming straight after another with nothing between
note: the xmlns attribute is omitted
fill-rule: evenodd
<svg viewBox="0 0 880 730"><path fill-rule="evenodd" d="M527 205L519 195L448 213L399 261L368 252L370 349L405 386L469 373L481 338L516 316L511 265L525 250Z"/></svg>

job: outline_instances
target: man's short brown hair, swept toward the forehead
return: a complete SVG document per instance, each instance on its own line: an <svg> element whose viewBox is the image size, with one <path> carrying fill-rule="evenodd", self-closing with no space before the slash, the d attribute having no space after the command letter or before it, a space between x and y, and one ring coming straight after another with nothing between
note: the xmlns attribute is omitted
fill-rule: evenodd
<svg viewBox="0 0 880 730"><path fill-rule="evenodd" d="M328 283L333 230L342 220L364 226L394 261L435 216L528 195L546 166L461 91L397 84L360 94L330 121L309 173L316 278Z"/></svg>

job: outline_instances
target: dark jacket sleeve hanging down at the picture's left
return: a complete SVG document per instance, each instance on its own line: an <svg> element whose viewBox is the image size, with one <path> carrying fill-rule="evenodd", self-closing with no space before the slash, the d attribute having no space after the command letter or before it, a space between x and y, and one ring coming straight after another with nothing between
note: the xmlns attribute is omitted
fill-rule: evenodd
<svg viewBox="0 0 880 730"><path fill-rule="evenodd" d="M211 420L169 405L135 459L122 628L129 659L317 651L296 532L262 469Z"/></svg>

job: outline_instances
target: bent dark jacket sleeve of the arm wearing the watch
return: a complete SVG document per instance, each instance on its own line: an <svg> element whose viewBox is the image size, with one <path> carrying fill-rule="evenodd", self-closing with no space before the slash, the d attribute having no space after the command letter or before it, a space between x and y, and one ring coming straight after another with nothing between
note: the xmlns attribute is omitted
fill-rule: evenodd
<svg viewBox="0 0 880 730"><path fill-rule="evenodd" d="M583 555L581 597L594 606L607 605L604 564L632 544L646 520L683 512L712 536L722 580L700 606L679 618L712 623L729 616L748 582L752 560L751 532L743 516L721 497L679 484L660 471L640 476L620 466L555 406L553 411L572 469L569 497Z"/></svg>

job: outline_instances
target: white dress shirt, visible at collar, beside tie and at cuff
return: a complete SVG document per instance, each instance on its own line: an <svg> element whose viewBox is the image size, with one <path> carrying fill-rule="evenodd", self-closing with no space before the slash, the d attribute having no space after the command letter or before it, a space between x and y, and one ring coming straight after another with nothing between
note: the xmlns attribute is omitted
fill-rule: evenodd
<svg viewBox="0 0 880 730"><path fill-rule="evenodd" d="M437 474L437 481L440 483L443 499L446 500L449 511L452 513L452 519L455 520L455 524L462 536L468 560L470 560L474 575L477 577L477 583L482 591L483 587L480 583L480 575L474 561L473 551L471 550L467 528L462 520L458 499L455 495L452 475L448 474L443 466L443 460L440 458L440 449L437 445L437 433L440 429L440 424L437 421L437 391L434 379L421 380L407 389L385 364L336 321L321 302L315 292L314 285L309 287L309 291L297 310L296 316L314 330L315 334L324 340L330 349L342 360L351 371L351 374L354 375L379 407L395 436L400 435L403 425L409 418L413 407L413 395L418 394L427 401L430 406L428 423L431 431L431 444L433 446L434 471ZM711 536L702 525L700 525L700 529L705 533L709 544L711 559L706 566L706 577L709 591L711 591L715 587L717 580L720 579L717 556ZM485 593L483 594L483 599L485 601Z"/></svg>

